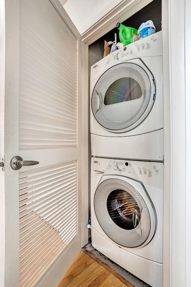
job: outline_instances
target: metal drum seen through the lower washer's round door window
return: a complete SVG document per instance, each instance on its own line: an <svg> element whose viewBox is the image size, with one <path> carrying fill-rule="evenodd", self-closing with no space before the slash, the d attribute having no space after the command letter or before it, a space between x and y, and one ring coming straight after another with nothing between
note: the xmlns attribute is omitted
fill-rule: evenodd
<svg viewBox="0 0 191 287"><path fill-rule="evenodd" d="M107 198L107 210L113 222L119 227L131 230L140 222L141 211L138 204L124 190L113 190Z"/></svg>

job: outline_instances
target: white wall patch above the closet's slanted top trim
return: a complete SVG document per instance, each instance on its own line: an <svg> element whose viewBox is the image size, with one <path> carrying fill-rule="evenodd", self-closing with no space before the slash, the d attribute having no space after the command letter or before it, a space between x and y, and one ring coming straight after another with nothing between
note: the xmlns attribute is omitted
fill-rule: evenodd
<svg viewBox="0 0 191 287"><path fill-rule="evenodd" d="M63 0L60 0L60 2ZM65 0L64 0L65 1ZM68 0L64 9L78 31L83 34L124 0Z"/></svg>

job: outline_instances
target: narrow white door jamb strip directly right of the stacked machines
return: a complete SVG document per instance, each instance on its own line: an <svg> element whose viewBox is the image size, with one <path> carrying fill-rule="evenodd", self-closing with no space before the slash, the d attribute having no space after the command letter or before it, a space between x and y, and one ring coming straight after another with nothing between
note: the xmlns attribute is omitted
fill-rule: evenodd
<svg viewBox="0 0 191 287"><path fill-rule="evenodd" d="M170 286L172 261L170 249L170 218L172 218L172 103L170 100L170 7L168 1L162 1L162 38L163 38L163 103L164 103L164 198L163 198L163 287ZM171 92L172 94L172 92ZM171 172L170 172L171 171Z"/></svg>

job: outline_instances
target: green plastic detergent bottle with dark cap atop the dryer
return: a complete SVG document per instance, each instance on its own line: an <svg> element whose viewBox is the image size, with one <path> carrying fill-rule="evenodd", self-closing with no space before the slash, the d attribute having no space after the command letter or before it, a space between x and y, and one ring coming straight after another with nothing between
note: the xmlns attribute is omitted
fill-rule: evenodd
<svg viewBox="0 0 191 287"><path fill-rule="evenodd" d="M119 29L119 39L124 46L130 44L131 38L137 35L137 29L126 27L119 22L116 24L116 28Z"/></svg>

